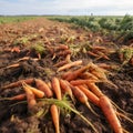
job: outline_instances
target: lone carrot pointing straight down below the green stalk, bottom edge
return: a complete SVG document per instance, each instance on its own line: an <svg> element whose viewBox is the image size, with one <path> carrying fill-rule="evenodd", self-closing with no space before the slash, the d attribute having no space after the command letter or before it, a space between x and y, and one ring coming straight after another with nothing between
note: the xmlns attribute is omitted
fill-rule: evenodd
<svg viewBox="0 0 133 133"><path fill-rule="evenodd" d="M52 115L52 121L55 127L55 133L60 133L60 125L59 125L59 111L58 111L58 106L52 104L50 108L51 111L51 115Z"/></svg>

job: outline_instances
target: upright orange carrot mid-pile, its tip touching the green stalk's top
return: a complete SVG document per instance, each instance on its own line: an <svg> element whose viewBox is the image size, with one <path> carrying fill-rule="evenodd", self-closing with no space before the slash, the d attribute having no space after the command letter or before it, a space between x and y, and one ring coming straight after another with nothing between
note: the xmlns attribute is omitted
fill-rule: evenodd
<svg viewBox="0 0 133 133"><path fill-rule="evenodd" d="M55 96L58 100L61 100L61 88L60 88L60 82L58 78L52 78L52 89L55 93Z"/></svg>

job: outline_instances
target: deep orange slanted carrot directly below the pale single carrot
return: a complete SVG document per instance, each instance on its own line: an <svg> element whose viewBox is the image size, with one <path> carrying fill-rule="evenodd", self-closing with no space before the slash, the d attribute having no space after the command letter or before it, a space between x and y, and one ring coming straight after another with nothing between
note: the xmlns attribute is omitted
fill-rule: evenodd
<svg viewBox="0 0 133 133"><path fill-rule="evenodd" d="M68 72L68 74L65 74L64 79L68 81L74 80L78 76L80 76L84 71L86 71L89 69L89 65L82 66L81 69L78 69L71 73Z"/></svg>

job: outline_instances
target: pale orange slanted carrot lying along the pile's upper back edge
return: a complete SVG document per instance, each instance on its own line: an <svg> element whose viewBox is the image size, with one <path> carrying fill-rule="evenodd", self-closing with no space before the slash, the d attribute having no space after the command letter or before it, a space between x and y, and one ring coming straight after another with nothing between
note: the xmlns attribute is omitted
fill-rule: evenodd
<svg viewBox="0 0 133 133"><path fill-rule="evenodd" d="M72 68L72 66L80 65L80 64L82 64L82 60L74 61L74 62L70 62L70 63L68 63L68 64L64 64L63 66L60 66L60 68L58 69L58 72L59 72L59 71L66 70L66 69L70 69L70 68Z"/></svg>

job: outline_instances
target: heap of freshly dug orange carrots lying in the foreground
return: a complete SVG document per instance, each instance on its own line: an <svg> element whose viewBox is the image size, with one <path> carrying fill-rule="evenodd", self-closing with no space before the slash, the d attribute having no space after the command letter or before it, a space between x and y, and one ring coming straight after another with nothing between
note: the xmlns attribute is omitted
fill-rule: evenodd
<svg viewBox="0 0 133 133"><path fill-rule="evenodd" d="M59 68L59 71L68 70L72 66L78 68L76 65L79 65L79 68L73 71L63 72L60 78L53 76L49 83L41 79L25 79L6 85L2 89L13 89L22 85L25 93L10 98L10 100L23 100L27 98L29 109L32 109L37 104L37 98L55 98L62 100L62 96L66 93L72 101L83 103L92 113L96 114L90 106L89 102L92 102L101 108L114 132L123 133L123 127L111 100L103 94L96 85L99 82L108 81L106 71L92 62L86 65L81 64L82 61L75 61L75 64L74 62L64 64L62 68ZM32 86L33 82L35 83L35 88ZM60 108L55 104L51 104L50 111L55 132L60 133Z"/></svg>

